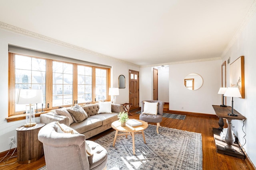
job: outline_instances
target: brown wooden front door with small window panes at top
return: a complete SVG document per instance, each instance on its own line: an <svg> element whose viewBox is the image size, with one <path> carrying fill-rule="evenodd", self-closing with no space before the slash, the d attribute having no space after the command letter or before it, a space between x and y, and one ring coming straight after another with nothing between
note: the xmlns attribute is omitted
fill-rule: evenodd
<svg viewBox="0 0 256 170"><path fill-rule="evenodd" d="M129 103L130 110L139 108L139 72L129 70Z"/></svg>

